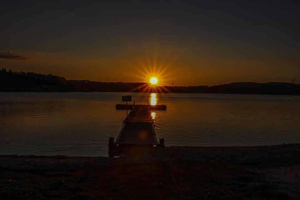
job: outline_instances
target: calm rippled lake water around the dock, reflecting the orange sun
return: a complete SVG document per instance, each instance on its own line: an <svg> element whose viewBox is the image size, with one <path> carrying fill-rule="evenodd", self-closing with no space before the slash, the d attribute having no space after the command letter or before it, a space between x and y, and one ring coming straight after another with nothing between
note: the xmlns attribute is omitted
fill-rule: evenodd
<svg viewBox="0 0 300 200"><path fill-rule="evenodd" d="M106 156L126 117L121 95L168 106L152 113L166 145L300 143L299 96L0 93L0 154Z"/></svg>

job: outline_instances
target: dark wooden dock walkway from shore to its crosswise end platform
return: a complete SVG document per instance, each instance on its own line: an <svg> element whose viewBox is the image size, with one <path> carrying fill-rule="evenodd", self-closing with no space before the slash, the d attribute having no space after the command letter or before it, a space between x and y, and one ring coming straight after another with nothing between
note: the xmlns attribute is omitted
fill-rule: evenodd
<svg viewBox="0 0 300 200"><path fill-rule="evenodd" d="M126 106L126 105L125 105ZM129 105L128 105L129 106ZM123 120L123 126L116 141L109 138L108 155L119 156L124 150L132 146L164 146L163 138L157 141L155 125L149 105L131 105L132 110Z"/></svg>

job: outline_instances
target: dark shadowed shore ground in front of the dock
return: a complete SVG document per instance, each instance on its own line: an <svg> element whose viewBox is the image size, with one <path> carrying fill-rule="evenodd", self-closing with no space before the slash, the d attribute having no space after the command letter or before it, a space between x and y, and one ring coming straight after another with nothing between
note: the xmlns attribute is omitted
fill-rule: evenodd
<svg viewBox="0 0 300 200"><path fill-rule="evenodd" d="M299 158L299 144L1 156L0 199L300 199Z"/></svg>

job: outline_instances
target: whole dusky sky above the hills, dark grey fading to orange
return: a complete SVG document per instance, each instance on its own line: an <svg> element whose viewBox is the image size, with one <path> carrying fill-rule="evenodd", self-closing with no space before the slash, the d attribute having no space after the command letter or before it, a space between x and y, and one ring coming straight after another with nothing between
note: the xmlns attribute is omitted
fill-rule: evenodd
<svg viewBox="0 0 300 200"><path fill-rule="evenodd" d="M155 76L159 85L297 83L299 8L299 1L4 1L0 68L105 82Z"/></svg>

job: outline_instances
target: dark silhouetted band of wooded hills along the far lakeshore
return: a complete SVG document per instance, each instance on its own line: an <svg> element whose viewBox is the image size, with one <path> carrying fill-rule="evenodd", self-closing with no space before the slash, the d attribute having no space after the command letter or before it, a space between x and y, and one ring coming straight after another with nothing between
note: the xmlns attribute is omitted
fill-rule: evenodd
<svg viewBox="0 0 300 200"><path fill-rule="evenodd" d="M66 80L52 74L12 72L0 69L0 91L32 92L166 92L300 95L300 85L293 83L237 82L216 86L157 86L148 83L96 82Z"/></svg>

